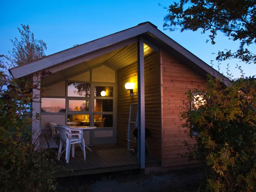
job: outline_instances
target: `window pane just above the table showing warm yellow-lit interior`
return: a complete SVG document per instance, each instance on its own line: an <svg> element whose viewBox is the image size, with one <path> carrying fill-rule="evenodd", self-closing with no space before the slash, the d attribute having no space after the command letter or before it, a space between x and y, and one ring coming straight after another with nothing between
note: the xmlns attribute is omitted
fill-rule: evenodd
<svg viewBox="0 0 256 192"><path fill-rule="evenodd" d="M67 126L90 126L90 115L67 115Z"/></svg>

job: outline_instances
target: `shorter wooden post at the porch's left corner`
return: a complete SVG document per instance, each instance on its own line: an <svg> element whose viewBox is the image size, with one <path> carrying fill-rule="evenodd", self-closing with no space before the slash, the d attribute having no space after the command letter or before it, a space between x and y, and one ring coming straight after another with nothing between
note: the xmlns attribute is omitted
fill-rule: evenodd
<svg viewBox="0 0 256 192"><path fill-rule="evenodd" d="M33 88L33 102L32 102L32 143L35 144L35 149L40 145L40 119L36 119L37 113L40 115L40 86L41 86L41 76L38 74L33 74L33 83L38 87Z"/></svg>

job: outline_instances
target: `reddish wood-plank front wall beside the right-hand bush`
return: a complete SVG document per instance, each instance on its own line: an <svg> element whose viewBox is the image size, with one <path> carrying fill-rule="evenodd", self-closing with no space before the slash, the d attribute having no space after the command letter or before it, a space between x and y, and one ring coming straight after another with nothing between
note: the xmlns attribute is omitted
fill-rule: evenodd
<svg viewBox="0 0 256 192"><path fill-rule="evenodd" d="M181 99L185 99L185 93L200 85L206 87L206 78L195 73L187 65L178 61L175 57L162 51L162 166L182 166L190 164L186 158L177 154L185 154L186 147L183 141L193 143L194 139L184 133L179 120L179 106ZM198 163L198 162L194 162Z"/></svg>

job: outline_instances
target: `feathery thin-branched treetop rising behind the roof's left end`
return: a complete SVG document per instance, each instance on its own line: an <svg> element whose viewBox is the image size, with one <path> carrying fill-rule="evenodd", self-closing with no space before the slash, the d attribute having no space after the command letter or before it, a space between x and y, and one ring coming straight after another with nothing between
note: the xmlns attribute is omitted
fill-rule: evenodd
<svg viewBox="0 0 256 192"><path fill-rule="evenodd" d="M46 43L42 40L36 40L34 34L30 31L28 25L21 24L20 41L15 38L11 39L13 44L12 52L6 55L12 66L28 64L45 56L44 51L47 49Z"/></svg>

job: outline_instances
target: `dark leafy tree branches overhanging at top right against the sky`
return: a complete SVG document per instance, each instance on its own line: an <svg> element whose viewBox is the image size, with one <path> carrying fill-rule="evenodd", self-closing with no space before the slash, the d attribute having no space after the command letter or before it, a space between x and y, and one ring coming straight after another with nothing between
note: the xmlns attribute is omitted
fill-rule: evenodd
<svg viewBox="0 0 256 192"><path fill-rule="evenodd" d="M169 14L164 18L164 29L173 31L180 26L181 32L209 31L212 44L215 44L217 32L223 32L230 40L239 41L241 46L236 52L219 51L216 59L239 58L256 64L256 55L244 48L244 45L256 43L255 0L180 0L166 9Z"/></svg>

